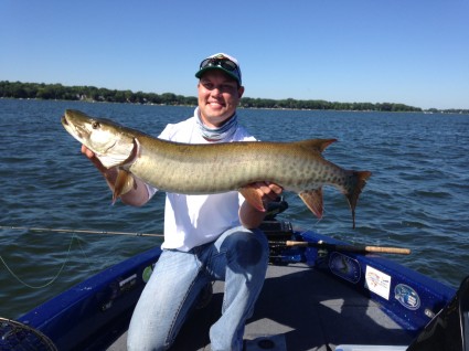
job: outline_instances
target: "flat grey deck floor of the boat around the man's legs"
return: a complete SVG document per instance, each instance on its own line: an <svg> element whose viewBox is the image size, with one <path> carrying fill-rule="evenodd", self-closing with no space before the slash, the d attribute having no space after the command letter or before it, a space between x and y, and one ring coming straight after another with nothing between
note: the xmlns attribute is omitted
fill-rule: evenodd
<svg viewBox="0 0 469 351"><path fill-rule="evenodd" d="M209 328L220 317L223 283L213 288L210 305L191 316L171 350L210 350ZM339 344L406 345L413 337L345 283L290 264L269 266L244 339L246 351L330 351ZM126 334L108 350L126 350Z"/></svg>

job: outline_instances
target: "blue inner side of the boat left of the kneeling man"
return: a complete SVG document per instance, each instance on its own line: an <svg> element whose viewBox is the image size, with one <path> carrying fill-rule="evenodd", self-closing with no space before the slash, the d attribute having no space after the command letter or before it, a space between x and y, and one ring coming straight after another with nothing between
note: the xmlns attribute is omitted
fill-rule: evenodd
<svg viewBox="0 0 469 351"><path fill-rule="evenodd" d="M153 248L124 260L36 307L19 321L40 330L58 350L103 350L128 328L161 254Z"/></svg>

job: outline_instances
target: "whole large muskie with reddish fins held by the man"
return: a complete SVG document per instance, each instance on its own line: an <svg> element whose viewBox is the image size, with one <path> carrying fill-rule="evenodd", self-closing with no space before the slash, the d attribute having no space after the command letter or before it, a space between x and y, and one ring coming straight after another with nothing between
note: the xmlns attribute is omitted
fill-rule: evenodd
<svg viewBox="0 0 469 351"><path fill-rule="evenodd" d="M104 167L119 169L114 200L129 190L131 173L173 193L239 191L253 206L265 211L260 195L246 185L267 181L298 193L312 213L322 217L322 185L329 184L347 196L355 227L356 202L371 176L369 171L344 170L322 158L321 152L335 139L180 143L72 109L65 111L62 125Z"/></svg>

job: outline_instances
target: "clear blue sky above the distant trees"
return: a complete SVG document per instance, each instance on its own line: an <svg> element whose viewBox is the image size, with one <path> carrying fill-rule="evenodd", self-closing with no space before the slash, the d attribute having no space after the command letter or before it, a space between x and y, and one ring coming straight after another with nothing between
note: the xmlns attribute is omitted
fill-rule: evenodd
<svg viewBox="0 0 469 351"><path fill-rule="evenodd" d="M196 95L205 56L245 96L469 108L469 1L0 0L0 81Z"/></svg>

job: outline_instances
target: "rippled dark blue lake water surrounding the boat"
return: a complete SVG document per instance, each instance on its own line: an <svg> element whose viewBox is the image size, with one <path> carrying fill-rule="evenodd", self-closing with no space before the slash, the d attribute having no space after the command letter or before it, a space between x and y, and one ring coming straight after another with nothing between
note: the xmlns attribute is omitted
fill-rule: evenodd
<svg viewBox="0 0 469 351"><path fill-rule="evenodd" d="M108 188L63 129L66 108L108 117L157 136L193 108L0 99L0 225L161 233L164 195L143 208L110 205ZM469 116L251 110L239 118L263 140L337 138L324 157L373 172L356 208L324 189L318 221L296 194L283 215L297 228L367 245L402 246L390 256L457 287L469 275ZM0 230L0 316L18 318L158 237Z"/></svg>

